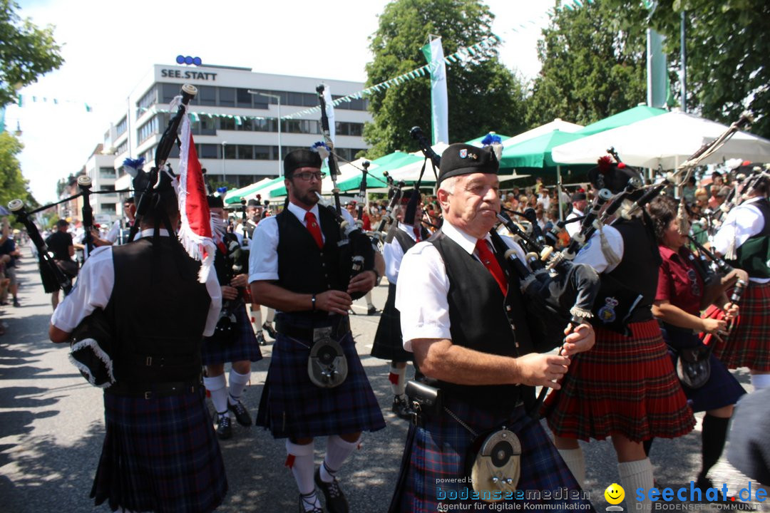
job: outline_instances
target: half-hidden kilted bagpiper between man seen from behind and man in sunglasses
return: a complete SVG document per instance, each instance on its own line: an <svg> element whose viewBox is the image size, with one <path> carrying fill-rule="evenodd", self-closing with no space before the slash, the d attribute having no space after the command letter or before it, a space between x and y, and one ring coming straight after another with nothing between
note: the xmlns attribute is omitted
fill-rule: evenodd
<svg viewBox="0 0 770 513"><path fill-rule="evenodd" d="M222 196L208 196L212 216L216 255L214 268L222 288L223 307L219 315L216 331L211 337L203 339L203 365L206 376L203 384L211 395L211 402L216 411L216 435L221 440L233 436L229 412L235 416L239 425L252 425L249 410L243 405L241 397L251 379L251 362L262 359L259 343L246 314L244 291L248 285L245 272L236 273L233 269L246 269L246 261L233 261L239 255L240 245L235 235L225 232L226 213ZM246 260L243 257L243 260ZM225 364L231 362L229 387L225 378Z"/></svg>

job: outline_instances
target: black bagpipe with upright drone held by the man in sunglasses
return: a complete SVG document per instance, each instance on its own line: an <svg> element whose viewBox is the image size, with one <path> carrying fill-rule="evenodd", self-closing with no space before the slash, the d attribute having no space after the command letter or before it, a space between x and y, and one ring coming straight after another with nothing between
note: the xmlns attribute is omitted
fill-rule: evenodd
<svg viewBox="0 0 770 513"><path fill-rule="evenodd" d="M324 86L319 85L316 88L318 94L318 101L321 107L321 128L323 130L323 138L325 145L317 147L319 153L326 150L328 155L321 155L321 158L328 158L329 173L333 183L333 196L334 206L328 205L323 196L318 194L320 204L328 208L334 216L337 224L340 227L340 277L343 283L349 283L350 280L363 271L372 271L374 269L374 248L372 247L371 239L363 232L363 230L353 223L347 222L342 215L342 207L340 206L340 189L336 185L337 176L340 174L340 168L336 162L336 155L334 154L334 145L331 140L331 132L329 128L329 117L326 114L326 99L323 96ZM363 180L363 182L366 182ZM364 185L366 187L366 185ZM366 292L353 292L350 295L353 299L363 298Z"/></svg>

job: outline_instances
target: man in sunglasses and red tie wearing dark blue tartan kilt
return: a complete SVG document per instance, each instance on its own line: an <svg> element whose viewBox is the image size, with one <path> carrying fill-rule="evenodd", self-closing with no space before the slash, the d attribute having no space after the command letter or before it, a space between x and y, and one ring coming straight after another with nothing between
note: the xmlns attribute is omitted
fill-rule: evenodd
<svg viewBox="0 0 770 513"><path fill-rule="evenodd" d="M380 406L363 371L350 333L350 293L374 286L377 275L363 271L343 283L340 271L340 226L318 205L322 173L320 155L297 149L284 159L288 198L283 212L259 222L249 255L249 282L254 301L276 308L276 343L259 401L256 424L275 438L286 438L286 466L300 491L300 511L348 511L336 473L360 441L361 431L385 427ZM353 219L343 212L351 225ZM326 348L347 375L331 388L313 379L313 349ZM328 350L328 351L327 351ZM320 351L320 349L318 349ZM314 358L314 357L313 357ZM309 365L310 364L310 365ZM326 436L323 465L315 470L313 438Z"/></svg>

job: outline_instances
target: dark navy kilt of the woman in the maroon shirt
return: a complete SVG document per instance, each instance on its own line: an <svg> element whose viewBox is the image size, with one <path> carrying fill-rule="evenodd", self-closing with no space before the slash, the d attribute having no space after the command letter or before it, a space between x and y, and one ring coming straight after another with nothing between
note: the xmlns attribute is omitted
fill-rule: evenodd
<svg viewBox="0 0 770 513"><path fill-rule="evenodd" d="M668 330L661 328L663 338L668 342L668 354L671 355L671 363L676 365L678 358L676 349L672 347L669 341ZM695 333L689 333L684 336L690 342L687 345L681 347L693 347L701 344L700 338ZM708 381L705 382L701 388L689 388L684 383L681 383L681 389L685 391L688 404L692 411L708 411L721 408L723 406L735 405L738 399L746 393L738 380L731 375L727 370L725 364L718 360L711 352L708 356L708 364L711 366L711 372L708 375Z"/></svg>

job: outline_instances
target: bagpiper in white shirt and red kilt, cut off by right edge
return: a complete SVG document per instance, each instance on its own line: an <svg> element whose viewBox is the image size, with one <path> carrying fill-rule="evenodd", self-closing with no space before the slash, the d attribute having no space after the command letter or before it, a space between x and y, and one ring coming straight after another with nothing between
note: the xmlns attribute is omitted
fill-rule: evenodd
<svg viewBox="0 0 770 513"><path fill-rule="evenodd" d="M748 367L755 388L770 386L770 202L768 180L760 178L748 199L733 208L714 238L714 249L735 268L748 272L740 314L721 341L705 337L728 368ZM710 309L709 317L718 318Z"/></svg>

